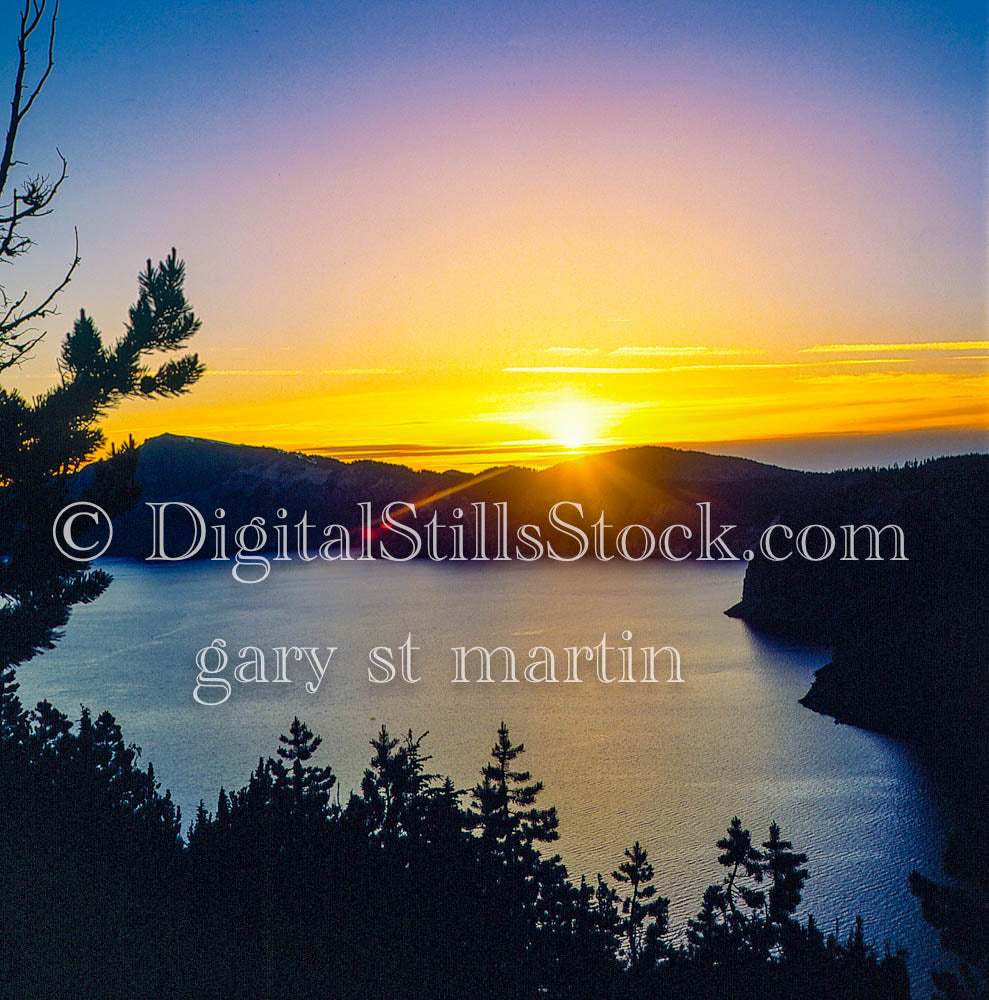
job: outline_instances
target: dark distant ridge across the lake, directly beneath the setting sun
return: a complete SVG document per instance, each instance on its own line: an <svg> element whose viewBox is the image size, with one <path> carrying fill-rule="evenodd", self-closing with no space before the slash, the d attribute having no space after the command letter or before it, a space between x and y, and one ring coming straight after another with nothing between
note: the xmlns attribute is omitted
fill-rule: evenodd
<svg viewBox="0 0 989 1000"><path fill-rule="evenodd" d="M94 463L75 477L74 492L91 489L102 463ZM699 502L710 502L712 519L734 524L732 543L738 554L754 543L782 505L812 495L822 479L819 473L797 472L749 459L707 455L673 448L644 447L594 455L535 471L515 466L490 469L476 476L463 472L416 472L385 462L340 462L333 458L232 445L199 438L163 434L139 448L134 471L134 493L140 503L115 522L112 554L145 558L151 551L151 516L144 503L183 501L210 519L222 508L229 525L261 516L270 524L284 509L286 520L298 521L304 512L320 527L342 524L351 544L359 545L357 504L370 502L375 515L393 501L414 502L423 526L435 512L441 523L463 519L468 553L475 550L472 503L508 503L510 532L520 524L536 524L556 550L573 555L576 543L554 532L549 509L560 500L583 505L586 530L603 511L612 527L606 532L613 545L616 530L626 524L644 524L657 534L669 524L684 523L698 530ZM432 499L431 499L432 498ZM428 502L427 502L428 501ZM576 515L571 508L568 518ZM489 508L485 541L493 553L495 518ZM715 529L717 533L717 529ZM449 532L441 532L441 551L449 555ZM176 515L168 529L170 551L185 552L192 539L191 522ZM274 539L270 545L274 546ZM408 551L402 539L391 542L396 554ZM205 546L202 555L208 555Z"/></svg>

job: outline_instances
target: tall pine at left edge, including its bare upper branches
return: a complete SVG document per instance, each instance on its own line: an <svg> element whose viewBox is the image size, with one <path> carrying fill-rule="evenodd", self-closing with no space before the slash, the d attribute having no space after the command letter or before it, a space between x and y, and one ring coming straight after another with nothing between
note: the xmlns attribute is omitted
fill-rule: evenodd
<svg viewBox="0 0 989 1000"><path fill-rule="evenodd" d="M57 4L24 0L10 117L0 144L0 262L6 264L30 251L34 241L24 227L51 214L66 178L61 153L54 179L41 173L16 176L26 166L16 155L20 130L54 67L57 18ZM48 35L47 61L29 82L37 32ZM55 314L58 295L80 263L77 236L64 276L37 302L0 287L0 372L26 360L45 336L37 324ZM109 408L132 397L178 395L202 375L195 354L149 365L152 355L182 350L199 329L185 300L184 280L185 265L174 249L157 267L149 260L119 340L104 345L92 318L82 312L65 337L54 387L31 400L0 387L0 671L51 649L73 605L94 600L110 582L106 573L65 558L54 545L52 524L66 502L67 476L103 444L98 423ZM133 501L125 493L117 497L121 506L108 509L111 516Z"/></svg>

